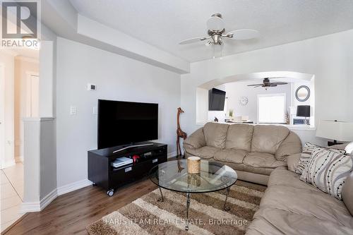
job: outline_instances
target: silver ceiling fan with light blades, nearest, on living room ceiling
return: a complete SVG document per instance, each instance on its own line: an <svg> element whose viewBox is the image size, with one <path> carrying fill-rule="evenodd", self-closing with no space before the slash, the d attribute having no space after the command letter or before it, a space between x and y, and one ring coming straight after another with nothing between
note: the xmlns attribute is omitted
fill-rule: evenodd
<svg viewBox="0 0 353 235"><path fill-rule="evenodd" d="M233 30L225 33L225 22L223 21L222 15L220 13L213 14L207 20L208 36L206 37L194 37L189 40L184 40L179 42L179 44L189 44L193 42L202 42L205 40L210 40L206 42L207 44L222 45L222 39L232 39L232 40L248 40L254 37L258 37L259 33L257 30L241 29Z"/></svg>

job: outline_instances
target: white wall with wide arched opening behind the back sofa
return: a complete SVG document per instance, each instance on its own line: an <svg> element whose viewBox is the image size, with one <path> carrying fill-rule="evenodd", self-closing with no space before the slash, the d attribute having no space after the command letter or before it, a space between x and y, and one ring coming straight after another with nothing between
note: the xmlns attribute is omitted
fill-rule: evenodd
<svg viewBox="0 0 353 235"><path fill-rule="evenodd" d="M301 42L283 44L225 56L222 59L191 64L191 73L181 75L181 106L186 123L184 131L191 133L196 124L196 88L210 80L265 71L293 71L315 75L316 121L337 119L353 121L353 30L325 35ZM302 138L313 138L314 131Z"/></svg>

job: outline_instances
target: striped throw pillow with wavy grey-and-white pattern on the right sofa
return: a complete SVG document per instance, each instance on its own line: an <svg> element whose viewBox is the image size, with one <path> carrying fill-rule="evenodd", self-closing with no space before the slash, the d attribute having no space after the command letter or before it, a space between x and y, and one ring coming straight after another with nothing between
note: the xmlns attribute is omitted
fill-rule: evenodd
<svg viewBox="0 0 353 235"><path fill-rule="evenodd" d="M342 200L342 186L352 169L352 156L339 150L315 147L300 179Z"/></svg>

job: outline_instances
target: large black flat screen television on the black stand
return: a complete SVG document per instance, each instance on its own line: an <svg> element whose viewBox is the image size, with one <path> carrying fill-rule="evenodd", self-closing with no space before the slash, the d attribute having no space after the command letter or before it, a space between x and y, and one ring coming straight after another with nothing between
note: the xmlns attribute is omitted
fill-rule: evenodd
<svg viewBox="0 0 353 235"><path fill-rule="evenodd" d="M158 104L98 100L98 148L157 140Z"/></svg>

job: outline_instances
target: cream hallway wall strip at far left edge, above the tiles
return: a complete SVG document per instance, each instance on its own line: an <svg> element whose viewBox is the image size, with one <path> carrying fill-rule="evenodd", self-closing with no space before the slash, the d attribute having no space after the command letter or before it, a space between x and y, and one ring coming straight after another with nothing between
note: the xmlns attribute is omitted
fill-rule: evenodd
<svg viewBox="0 0 353 235"><path fill-rule="evenodd" d="M1 167L10 167L15 164L15 135L14 135L14 56L0 51L0 64L4 68L4 110L0 110L3 117L0 125L4 127L4 157L0 159ZM2 109L2 107L1 107Z"/></svg>

